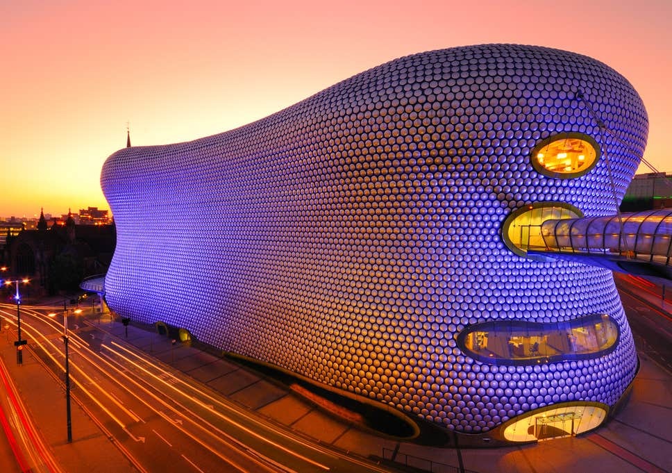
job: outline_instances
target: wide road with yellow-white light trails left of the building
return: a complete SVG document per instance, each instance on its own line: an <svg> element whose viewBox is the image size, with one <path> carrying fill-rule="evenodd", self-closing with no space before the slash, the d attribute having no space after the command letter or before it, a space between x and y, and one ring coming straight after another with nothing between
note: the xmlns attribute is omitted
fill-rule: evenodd
<svg viewBox="0 0 672 473"><path fill-rule="evenodd" d="M62 310L48 317L52 310L22 306L22 333L28 349L62 379ZM12 306L0 313L15 324ZM70 315L69 326L73 402L140 472L389 471L267 422L85 317Z"/></svg>

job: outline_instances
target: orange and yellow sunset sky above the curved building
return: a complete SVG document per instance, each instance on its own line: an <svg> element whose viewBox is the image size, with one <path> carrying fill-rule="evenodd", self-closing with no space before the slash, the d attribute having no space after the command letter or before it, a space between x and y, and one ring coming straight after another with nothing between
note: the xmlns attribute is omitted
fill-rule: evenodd
<svg viewBox="0 0 672 473"><path fill-rule="evenodd" d="M639 91L672 171L672 1L0 0L0 217L109 208L106 158L260 119L410 53L538 44ZM640 167L639 172L650 172Z"/></svg>

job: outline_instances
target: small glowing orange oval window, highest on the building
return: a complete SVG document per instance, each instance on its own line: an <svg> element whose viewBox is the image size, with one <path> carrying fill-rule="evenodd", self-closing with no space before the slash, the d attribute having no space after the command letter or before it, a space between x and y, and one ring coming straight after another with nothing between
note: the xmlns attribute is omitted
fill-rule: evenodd
<svg viewBox="0 0 672 473"><path fill-rule="evenodd" d="M599 158L599 145L584 133L554 135L532 149L532 166L537 172L560 179L586 174Z"/></svg>

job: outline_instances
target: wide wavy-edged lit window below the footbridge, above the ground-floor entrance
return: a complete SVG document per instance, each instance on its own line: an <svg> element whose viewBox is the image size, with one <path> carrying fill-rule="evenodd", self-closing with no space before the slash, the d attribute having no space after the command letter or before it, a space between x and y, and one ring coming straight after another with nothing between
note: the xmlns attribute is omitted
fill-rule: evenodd
<svg viewBox="0 0 672 473"><path fill-rule="evenodd" d="M606 314L566 322L494 320L468 326L457 345L475 360L492 365L536 365L596 358L619 340L619 326Z"/></svg>

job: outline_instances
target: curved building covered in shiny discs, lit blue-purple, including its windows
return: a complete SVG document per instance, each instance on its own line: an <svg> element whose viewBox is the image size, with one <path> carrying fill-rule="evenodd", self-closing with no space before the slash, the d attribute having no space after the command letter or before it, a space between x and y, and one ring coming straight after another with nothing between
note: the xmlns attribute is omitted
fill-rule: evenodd
<svg viewBox="0 0 672 473"><path fill-rule="evenodd" d="M580 433L634 378L635 345L608 270L526 245L544 219L614 213L647 129L628 81L576 53L393 60L110 156L106 300L453 431Z"/></svg>

